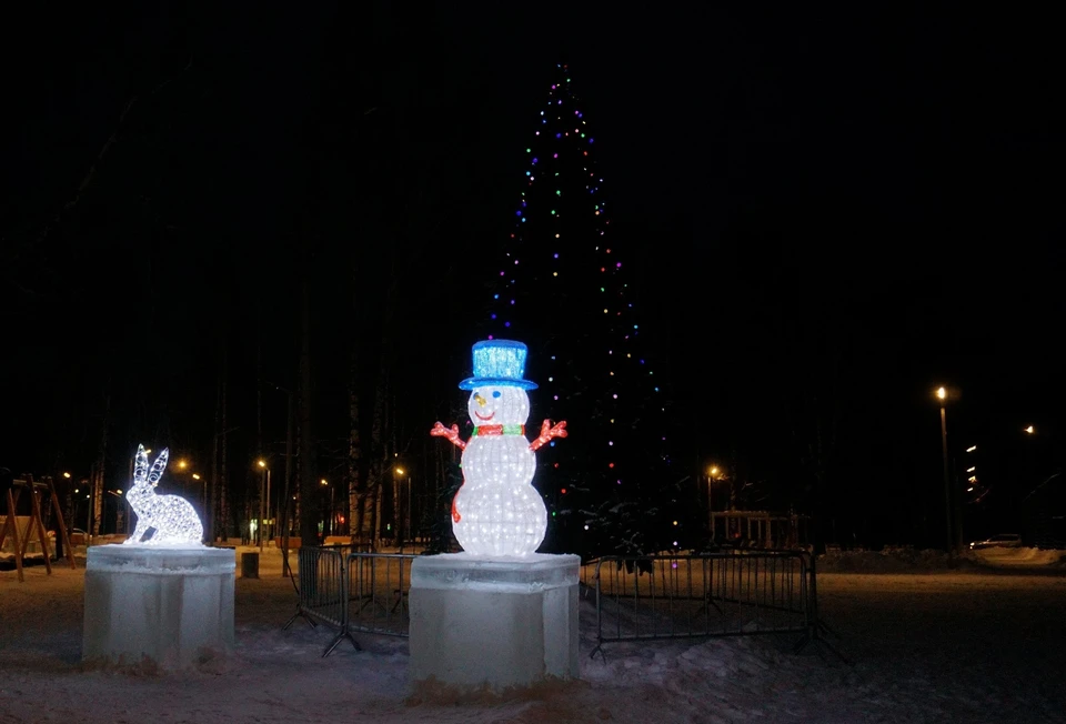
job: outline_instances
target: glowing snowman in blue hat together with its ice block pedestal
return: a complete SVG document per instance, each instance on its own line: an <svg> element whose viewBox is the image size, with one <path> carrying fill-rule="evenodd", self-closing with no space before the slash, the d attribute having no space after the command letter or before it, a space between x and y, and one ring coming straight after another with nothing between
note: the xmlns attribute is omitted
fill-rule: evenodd
<svg viewBox="0 0 1066 724"><path fill-rule="evenodd" d="M525 438L526 348L510 340L474 344L466 410L469 441L440 422L430 434L463 451L463 485L452 531L464 552L411 564L411 678L416 685L504 690L577 677L576 555L544 555L547 514L531 484L534 453L566 423L545 420Z"/></svg>

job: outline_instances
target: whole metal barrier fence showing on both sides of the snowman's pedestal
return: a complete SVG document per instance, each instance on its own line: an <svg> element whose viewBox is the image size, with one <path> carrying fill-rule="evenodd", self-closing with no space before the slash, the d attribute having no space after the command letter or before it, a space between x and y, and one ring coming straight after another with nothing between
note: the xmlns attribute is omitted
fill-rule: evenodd
<svg viewBox="0 0 1066 724"><path fill-rule="evenodd" d="M350 545L299 549L296 619L336 635L322 656L354 633L406 637L414 554L370 553ZM596 646L655 638L800 634L795 650L825 645L819 632L814 560L803 551L606 556L581 571L582 597L596 613ZM832 633L832 632L831 632Z"/></svg>

